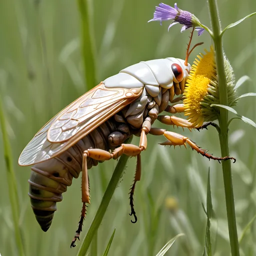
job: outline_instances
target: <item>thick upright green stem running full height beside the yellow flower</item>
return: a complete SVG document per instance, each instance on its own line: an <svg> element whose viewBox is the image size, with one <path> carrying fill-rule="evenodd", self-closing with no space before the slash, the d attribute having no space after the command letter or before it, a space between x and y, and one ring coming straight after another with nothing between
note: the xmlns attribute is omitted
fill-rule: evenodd
<svg viewBox="0 0 256 256"><path fill-rule="evenodd" d="M228 105L227 90L226 90L226 77L224 71L224 55L221 41L221 28L217 11L216 0L208 0L210 18L212 24L213 40L216 54L216 65L218 74L219 86L219 104ZM221 148L221 156L229 155L228 148L228 135L227 135L227 110L219 108L219 142ZM232 256L239 255L239 244L236 229L235 208L234 208L234 194L231 175L230 160L222 161L222 172L225 189L226 212L229 232L229 242L231 247Z"/></svg>

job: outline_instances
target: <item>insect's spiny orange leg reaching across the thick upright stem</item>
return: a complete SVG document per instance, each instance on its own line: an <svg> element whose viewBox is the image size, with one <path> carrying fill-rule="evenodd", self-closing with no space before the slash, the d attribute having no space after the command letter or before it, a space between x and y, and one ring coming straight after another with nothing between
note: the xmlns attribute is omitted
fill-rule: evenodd
<svg viewBox="0 0 256 256"><path fill-rule="evenodd" d="M184 145L186 147L186 143L188 143L192 149L196 150L202 156L206 156L208 159L218 160L219 162L220 160L232 159L235 162L235 158L233 157L229 157L229 156L215 157L207 153L207 150L201 149L191 139L181 134L178 134L172 131L167 131L165 129L160 129L160 128L151 128L149 133L153 135L164 135L168 139L167 141L160 143L161 145L170 145L170 146L173 145L174 147L176 145Z"/></svg>

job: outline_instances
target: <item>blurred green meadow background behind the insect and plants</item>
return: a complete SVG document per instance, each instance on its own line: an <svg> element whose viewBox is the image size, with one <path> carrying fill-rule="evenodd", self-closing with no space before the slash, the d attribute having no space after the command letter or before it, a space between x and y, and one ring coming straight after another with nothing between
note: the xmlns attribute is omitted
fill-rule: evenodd
<svg viewBox="0 0 256 256"><path fill-rule="evenodd" d="M94 34L97 82L140 60L167 56L184 58L188 31L180 34L180 25L167 32L169 22L147 23L158 0L90 1ZM172 5L174 1L165 1ZM194 13L210 26L205 0L182 0L181 9ZM256 11L255 0L219 0L222 26ZM228 30L223 37L226 56L234 68L236 80L248 75L251 81L238 94L255 92L256 17ZM211 41L204 32L193 42L204 41L190 56L209 49ZM44 233L37 224L27 195L30 169L20 167L17 158L23 147L56 112L86 91L80 53L80 17L75 0L1 0L0 1L0 96L4 103L8 135L13 153L20 202L20 228L25 255L75 255L81 242L70 249L81 209L80 178L73 180L57 203L53 222ZM96 84L95 84L96 85ZM256 121L253 97L241 99L238 113ZM163 127L155 122L154 126ZM172 130L172 127L166 128ZM175 128L177 131L177 128ZM218 136L213 127L198 132L178 132L189 136L214 155L220 155ZM238 236L256 212L255 128L239 120L230 125L232 164ZM98 255L116 228L109 255L155 255L178 233L185 233L166 255L202 255L205 243L205 205L207 171L210 167L212 203L212 247L214 255L230 252L221 165L208 161L191 149L175 150L158 145L163 137L148 136L148 148L142 153L142 177L136 185L134 205L138 222L130 222L128 190L133 180L135 159L128 161L121 182L98 229ZM133 142L138 143L138 138ZM17 255L11 208L0 136L0 253ZM84 237L114 169L114 160L89 170L91 204L81 237ZM171 209L166 207L169 198ZM171 203L170 203L171 202ZM252 224L241 243L241 255L256 255L256 225Z"/></svg>

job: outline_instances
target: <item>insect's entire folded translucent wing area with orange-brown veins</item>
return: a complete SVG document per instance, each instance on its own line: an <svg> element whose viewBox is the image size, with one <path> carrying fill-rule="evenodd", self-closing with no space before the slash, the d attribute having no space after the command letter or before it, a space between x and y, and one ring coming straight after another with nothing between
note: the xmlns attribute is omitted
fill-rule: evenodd
<svg viewBox="0 0 256 256"><path fill-rule="evenodd" d="M131 103L140 88L106 88L98 84L48 121L21 152L19 165L31 165L57 156L110 116Z"/></svg>

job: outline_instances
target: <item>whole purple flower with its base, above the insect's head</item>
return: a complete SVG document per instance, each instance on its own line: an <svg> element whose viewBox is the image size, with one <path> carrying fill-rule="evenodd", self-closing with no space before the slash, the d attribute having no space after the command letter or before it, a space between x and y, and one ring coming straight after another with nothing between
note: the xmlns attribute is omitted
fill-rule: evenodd
<svg viewBox="0 0 256 256"><path fill-rule="evenodd" d="M148 22L158 20L161 24L162 20L169 19L172 19L173 22L169 25L168 30L171 26L179 23L183 25L180 32L183 32L189 27L195 27L198 35L201 35L204 31L204 28L200 26L199 19L191 12L179 9L176 3L174 4L174 8L165 3L159 3L159 6L155 6L154 17L148 20Z"/></svg>

